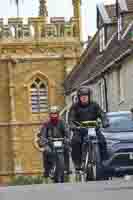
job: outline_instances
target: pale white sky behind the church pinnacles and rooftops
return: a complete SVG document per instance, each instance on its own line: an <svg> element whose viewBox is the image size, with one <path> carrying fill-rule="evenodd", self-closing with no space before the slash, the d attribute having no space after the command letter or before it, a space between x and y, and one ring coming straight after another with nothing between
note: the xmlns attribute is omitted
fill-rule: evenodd
<svg viewBox="0 0 133 200"><path fill-rule="evenodd" d="M16 16L15 0L1 0L0 17L5 19ZM38 15L39 0L20 0L20 16L32 17ZM53 3L54 2L54 3ZM96 32L96 5L98 3L111 4L115 0L82 0L82 39L87 40L88 35ZM64 16L69 19L73 15L72 0L47 0L49 16Z"/></svg>

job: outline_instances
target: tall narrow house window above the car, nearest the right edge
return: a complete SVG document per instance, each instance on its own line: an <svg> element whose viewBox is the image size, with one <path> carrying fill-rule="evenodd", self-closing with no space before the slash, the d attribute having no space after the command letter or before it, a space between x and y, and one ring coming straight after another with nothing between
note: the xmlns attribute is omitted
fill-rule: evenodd
<svg viewBox="0 0 133 200"><path fill-rule="evenodd" d="M124 101L124 77L122 68L117 70L118 102Z"/></svg>

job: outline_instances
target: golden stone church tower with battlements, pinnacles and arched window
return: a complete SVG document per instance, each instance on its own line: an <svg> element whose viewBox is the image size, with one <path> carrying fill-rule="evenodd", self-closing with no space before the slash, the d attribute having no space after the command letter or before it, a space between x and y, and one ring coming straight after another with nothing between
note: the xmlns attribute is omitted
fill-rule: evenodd
<svg viewBox="0 0 133 200"><path fill-rule="evenodd" d="M39 3L37 17L0 19L0 183L42 173L34 135L50 105L64 107L63 82L81 54L80 0L69 21L48 20Z"/></svg>

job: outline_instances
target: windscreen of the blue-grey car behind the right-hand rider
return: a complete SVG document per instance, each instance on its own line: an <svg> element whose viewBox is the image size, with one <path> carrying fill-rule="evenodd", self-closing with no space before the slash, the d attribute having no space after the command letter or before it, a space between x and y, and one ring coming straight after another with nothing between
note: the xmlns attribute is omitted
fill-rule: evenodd
<svg viewBox="0 0 133 200"><path fill-rule="evenodd" d="M107 132L125 132L133 131L133 119L131 115L110 116L109 126L104 129Z"/></svg>

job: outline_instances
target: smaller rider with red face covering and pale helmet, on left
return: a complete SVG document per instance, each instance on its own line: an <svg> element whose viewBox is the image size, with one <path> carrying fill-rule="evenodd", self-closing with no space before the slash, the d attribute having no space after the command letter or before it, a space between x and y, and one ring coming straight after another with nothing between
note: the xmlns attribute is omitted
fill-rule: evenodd
<svg viewBox="0 0 133 200"><path fill-rule="evenodd" d="M65 170L69 173L69 133L66 125L62 119L59 118L59 109L57 106L51 106L49 112L48 121L44 122L40 133L39 133L38 144L40 147L44 147L43 151L43 166L44 166L44 176L49 177L50 172L53 167L54 153L51 146L47 143L50 138L64 138L65 141L65 151L64 151L64 161Z"/></svg>

